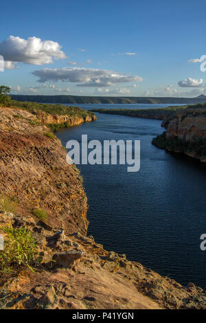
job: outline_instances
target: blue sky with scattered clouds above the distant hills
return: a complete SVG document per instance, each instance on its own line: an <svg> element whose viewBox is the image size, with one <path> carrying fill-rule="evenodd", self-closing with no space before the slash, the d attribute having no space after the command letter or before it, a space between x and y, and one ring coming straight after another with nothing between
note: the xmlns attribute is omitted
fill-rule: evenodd
<svg viewBox="0 0 206 323"><path fill-rule="evenodd" d="M206 95L203 0L10 0L0 10L0 85L12 93Z"/></svg>

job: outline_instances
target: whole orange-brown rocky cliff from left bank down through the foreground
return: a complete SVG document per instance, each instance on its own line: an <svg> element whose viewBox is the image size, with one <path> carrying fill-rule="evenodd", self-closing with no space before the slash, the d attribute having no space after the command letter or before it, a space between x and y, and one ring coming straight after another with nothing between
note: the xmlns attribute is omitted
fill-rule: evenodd
<svg viewBox="0 0 206 323"><path fill-rule="evenodd" d="M60 141L48 136L47 121L45 115L0 108L0 232L5 251L19 232L20 239L25 235L22 228L38 251L32 267L17 258L14 271L2 275L0 270L0 308L205 309L206 294L200 287L183 287L124 254L106 251L87 236L88 206L80 173L66 163ZM47 217L39 217L45 212Z"/></svg>

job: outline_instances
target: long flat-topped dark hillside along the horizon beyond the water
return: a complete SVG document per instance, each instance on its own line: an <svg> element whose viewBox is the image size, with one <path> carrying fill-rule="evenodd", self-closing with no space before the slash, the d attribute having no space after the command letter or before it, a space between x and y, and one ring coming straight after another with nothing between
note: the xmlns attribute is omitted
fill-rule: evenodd
<svg viewBox="0 0 206 323"><path fill-rule="evenodd" d="M12 94L12 100L32 101L44 103L88 103L88 104L135 104L135 103L164 103L164 104L192 104L206 102L206 96L196 98L170 98L170 97L113 97L113 96L23 96Z"/></svg>

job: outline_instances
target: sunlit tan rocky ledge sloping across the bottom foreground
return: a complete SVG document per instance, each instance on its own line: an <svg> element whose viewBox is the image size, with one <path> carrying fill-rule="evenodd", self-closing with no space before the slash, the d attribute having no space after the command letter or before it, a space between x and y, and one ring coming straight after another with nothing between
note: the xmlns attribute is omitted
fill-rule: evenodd
<svg viewBox="0 0 206 323"><path fill-rule="evenodd" d="M107 252L92 236L46 227L28 215L1 212L0 220L27 227L41 256L34 272L23 268L1 282L0 309L206 309L200 287L183 287Z"/></svg>

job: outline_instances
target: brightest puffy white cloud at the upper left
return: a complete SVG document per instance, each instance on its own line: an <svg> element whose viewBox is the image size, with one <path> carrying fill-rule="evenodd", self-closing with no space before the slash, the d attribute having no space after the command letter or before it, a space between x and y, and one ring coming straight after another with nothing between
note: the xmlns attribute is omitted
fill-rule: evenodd
<svg viewBox="0 0 206 323"><path fill-rule="evenodd" d="M41 38L23 39L10 36L0 43L0 54L5 60L6 68L14 68L16 62L32 65L53 63L53 60L66 58L61 46L54 41L42 41Z"/></svg>

